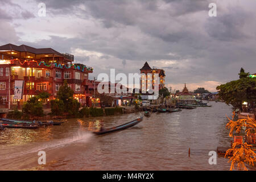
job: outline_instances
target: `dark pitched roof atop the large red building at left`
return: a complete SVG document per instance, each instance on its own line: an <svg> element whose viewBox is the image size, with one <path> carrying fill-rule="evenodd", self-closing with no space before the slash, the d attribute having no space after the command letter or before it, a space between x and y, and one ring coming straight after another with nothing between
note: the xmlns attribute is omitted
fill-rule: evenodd
<svg viewBox="0 0 256 182"><path fill-rule="evenodd" d="M39 48L39 49L37 49L37 48L34 48L34 47L26 46L24 44L22 44L20 46L16 46L14 44L6 44L6 45L3 45L3 46L0 46L0 50L1 51L13 50L13 51L18 51L18 52L30 52L30 53L34 53L36 55L55 53L56 55L63 56L63 54L53 50L52 48Z"/></svg>

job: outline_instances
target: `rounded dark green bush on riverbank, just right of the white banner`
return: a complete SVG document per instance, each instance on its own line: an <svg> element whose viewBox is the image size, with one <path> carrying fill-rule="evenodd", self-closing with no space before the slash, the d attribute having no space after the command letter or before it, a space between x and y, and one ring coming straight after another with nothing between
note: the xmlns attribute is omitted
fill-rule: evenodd
<svg viewBox="0 0 256 182"><path fill-rule="evenodd" d="M42 101L38 97L31 97L22 108L22 113L28 117L42 117L44 115Z"/></svg>

